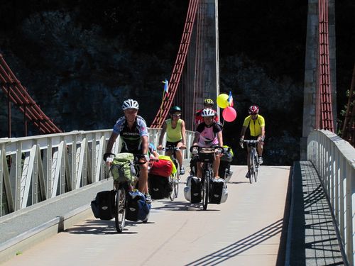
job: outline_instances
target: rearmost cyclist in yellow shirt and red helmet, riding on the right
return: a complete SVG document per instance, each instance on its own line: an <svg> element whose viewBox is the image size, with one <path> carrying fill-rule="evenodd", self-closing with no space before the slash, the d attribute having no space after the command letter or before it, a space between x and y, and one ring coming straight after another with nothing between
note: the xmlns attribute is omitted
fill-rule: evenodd
<svg viewBox="0 0 355 266"><path fill-rule="evenodd" d="M263 143L265 140L265 119L259 113L258 106L253 105L249 107L249 116L244 119L243 127L241 128L241 138L239 143L243 145L244 135L246 133L246 129L249 126L251 140L260 140L258 143L258 162L259 164L263 163ZM250 148L248 147L248 173L246 174L246 178L249 178L249 153Z"/></svg>

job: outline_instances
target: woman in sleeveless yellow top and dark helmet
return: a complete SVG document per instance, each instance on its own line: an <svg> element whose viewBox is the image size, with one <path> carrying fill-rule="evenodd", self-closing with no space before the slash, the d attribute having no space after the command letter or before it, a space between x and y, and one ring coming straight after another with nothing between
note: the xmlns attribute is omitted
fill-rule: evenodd
<svg viewBox="0 0 355 266"><path fill-rule="evenodd" d="M174 106L170 109L170 119L167 119L163 124L163 129L159 137L158 150L163 148L163 138L166 132L166 144L165 146L173 146L180 149L186 148L186 135L185 135L185 121L180 119L181 109L179 106ZM166 155L171 155L168 152ZM176 159L180 165L180 174L185 174L185 168L182 165L182 152L181 150L176 151Z"/></svg>

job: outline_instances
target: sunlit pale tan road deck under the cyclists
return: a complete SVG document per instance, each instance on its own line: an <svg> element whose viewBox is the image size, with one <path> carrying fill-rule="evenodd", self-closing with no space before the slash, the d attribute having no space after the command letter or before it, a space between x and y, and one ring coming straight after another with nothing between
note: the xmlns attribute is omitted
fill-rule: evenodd
<svg viewBox="0 0 355 266"><path fill-rule="evenodd" d="M4 265L276 265L290 167L262 166L249 184L245 166L233 166L226 203L207 211L185 201L153 201L148 223L89 216ZM187 174L182 177L185 182Z"/></svg>

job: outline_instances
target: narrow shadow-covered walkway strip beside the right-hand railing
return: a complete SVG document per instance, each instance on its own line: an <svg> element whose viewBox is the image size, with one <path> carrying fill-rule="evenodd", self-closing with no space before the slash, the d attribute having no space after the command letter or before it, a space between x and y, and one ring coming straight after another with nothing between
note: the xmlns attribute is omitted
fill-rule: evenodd
<svg viewBox="0 0 355 266"><path fill-rule="evenodd" d="M346 265L329 200L310 164L295 163L293 218L285 265Z"/></svg>

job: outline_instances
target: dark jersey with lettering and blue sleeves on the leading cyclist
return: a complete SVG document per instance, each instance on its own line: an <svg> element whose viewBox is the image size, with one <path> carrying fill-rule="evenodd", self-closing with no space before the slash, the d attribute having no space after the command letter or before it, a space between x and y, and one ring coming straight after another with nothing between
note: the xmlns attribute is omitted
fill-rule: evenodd
<svg viewBox="0 0 355 266"><path fill-rule="evenodd" d="M125 150L141 150L141 137L148 136L146 121L137 116L132 128L127 125L126 117L122 116L114 125L114 133L120 135Z"/></svg>

